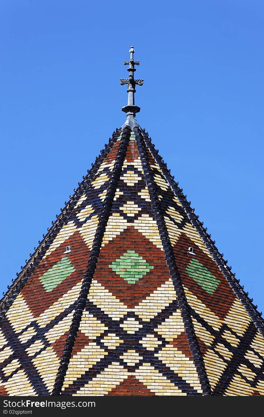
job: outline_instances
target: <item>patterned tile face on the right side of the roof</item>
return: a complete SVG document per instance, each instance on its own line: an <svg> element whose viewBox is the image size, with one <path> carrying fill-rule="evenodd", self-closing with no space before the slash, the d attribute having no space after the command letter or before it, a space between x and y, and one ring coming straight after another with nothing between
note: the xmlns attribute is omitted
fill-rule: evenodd
<svg viewBox="0 0 264 417"><path fill-rule="evenodd" d="M211 394L264 395L263 336L168 187L156 151L146 153Z"/></svg>

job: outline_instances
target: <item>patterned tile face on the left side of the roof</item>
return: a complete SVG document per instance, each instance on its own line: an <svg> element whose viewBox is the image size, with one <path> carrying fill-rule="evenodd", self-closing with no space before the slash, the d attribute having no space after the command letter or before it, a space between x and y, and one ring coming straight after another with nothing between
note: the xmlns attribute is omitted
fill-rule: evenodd
<svg viewBox="0 0 264 417"><path fill-rule="evenodd" d="M3 394L48 395L53 390L103 205L100 194L108 186L111 162L116 157L116 143L0 323ZM41 253L41 247L39 250Z"/></svg>

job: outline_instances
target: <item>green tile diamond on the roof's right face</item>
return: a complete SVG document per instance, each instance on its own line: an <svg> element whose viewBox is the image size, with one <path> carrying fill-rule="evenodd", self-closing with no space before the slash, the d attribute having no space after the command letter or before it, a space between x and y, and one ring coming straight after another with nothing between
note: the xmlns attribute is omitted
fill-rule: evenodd
<svg viewBox="0 0 264 417"><path fill-rule="evenodd" d="M186 272L204 291L208 294L214 294L220 281L197 259L192 258Z"/></svg>

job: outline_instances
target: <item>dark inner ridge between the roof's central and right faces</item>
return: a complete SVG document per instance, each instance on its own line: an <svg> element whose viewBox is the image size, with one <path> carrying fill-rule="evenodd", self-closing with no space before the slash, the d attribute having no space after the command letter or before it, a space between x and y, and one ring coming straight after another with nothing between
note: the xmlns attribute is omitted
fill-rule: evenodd
<svg viewBox="0 0 264 417"><path fill-rule="evenodd" d="M205 371L204 360L200 352L200 347L196 339L196 334L194 332L191 315L189 313L189 304L186 300L183 285L181 283L181 278L180 278L180 275L176 266L175 259L172 254L171 241L169 239L168 232L166 230L162 211L161 211L160 204L156 195L153 176L152 176L151 169L149 166L148 158L146 156L146 151L144 149L144 146L148 147L147 145L147 143L149 142L148 133L139 131L139 129L134 129L134 131L135 131L136 142L138 146L138 152L141 158L142 168L143 168L144 176L146 179L146 184L148 187L148 193L151 199L151 205L153 207L155 220L157 222L157 227L158 227L158 231L159 231L160 238L161 238L161 244L163 245L163 250L166 255L166 262L168 265L169 273L173 282L174 289L176 291L177 300L179 302L179 306L181 310L181 317L184 322L184 329L188 338L192 356L194 358L194 364L196 366L196 371L197 371L197 374L199 376L199 380L201 383L203 396L210 396L211 387L210 387L209 379Z"/></svg>

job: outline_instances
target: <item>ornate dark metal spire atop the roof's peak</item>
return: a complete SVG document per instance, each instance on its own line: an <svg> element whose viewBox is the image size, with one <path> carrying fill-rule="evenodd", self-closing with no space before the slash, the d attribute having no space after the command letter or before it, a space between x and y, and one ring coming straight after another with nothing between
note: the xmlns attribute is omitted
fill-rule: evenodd
<svg viewBox="0 0 264 417"><path fill-rule="evenodd" d="M134 72L136 71L136 68L134 68L135 65L139 65L139 61L134 61L133 54L134 54L134 48L131 46L130 50L130 60L125 61L124 65L129 65L128 71L128 80L124 78L120 78L120 84L128 84L128 105L122 107L122 111L126 113L126 122L123 124L122 128L124 126L131 126L131 128L134 128L136 126L139 126L138 122L136 121L136 113L140 111L140 107L135 106L135 98L134 94L136 93L135 86L142 85L143 80L135 80L134 79ZM140 126L139 126L140 127Z"/></svg>

